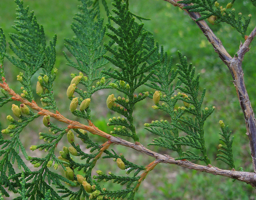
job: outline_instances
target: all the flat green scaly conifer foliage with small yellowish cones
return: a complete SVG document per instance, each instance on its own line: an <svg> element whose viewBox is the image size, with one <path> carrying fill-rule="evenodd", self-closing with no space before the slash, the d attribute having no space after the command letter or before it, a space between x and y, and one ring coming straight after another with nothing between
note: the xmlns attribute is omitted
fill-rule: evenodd
<svg viewBox="0 0 256 200"><path fill-rule="evenodd" d="M122 138L126 136L135 142L132 144L133 147L140 145L139 134L134 125L136 117L133 116L133 110L135 104L147 97L153 99L154 110L161 110L167 116L165 120L156 119L144 124L149 132L159 136L148 145L176 151L178 155L176 154L175 160L199 160L206 165L210 164L204 141L204 123L215 107L211 105L202 107L206 89L204 88L203 91L199 89L200 74L195 75L195 67L192 67L192 63L188 64L187 58L182 56L180 51L178 51L180 63L176 64L177 69L172 67L172 57L168 58L163 46L159 48L153 34L143 28L143 23L138 24L135 21L135 18L140 21L147 19L130 12L128 0L114 0L113 15L109 15L112 13L108 10L107 2L102 0L105 12L109 15L106 26L103 25L104 19L101 17L99 1L81 0L79 13L74 17L76 22L71 24L75 37L65 39L67 43L65 47L73 55L70 58L68 53L63 52L68 61L67 65L80 71L78 74L71 74L72 80L67 88L67 97L71 101L69 109L74 116L86 119L89 126L66 119L59 113L53 93L53 84L57 75L57 69L54 68L57 36L54 35L53 40L47 45L43 26L37 23L34 12L29 13L29 8L24 8L22 0L15 0L15 3L18 7L17 21L13 28L18 34L9 34L12 40L9 42L9 47L15 56L6 54L5 36L0 28L0 75L3 77L0 81L2 87L0 107L12 101L20 101L22 104L19 106L12 104L13 117L15 117L7 116L10 122L7 128L2 129L0 123L2 195L10 196L6 190L8 189L20 195L15 198L17 200L61 200L66 197L71 200L134 199L140 183L160 161L153 161L147 166L134 164L129 158L124 158L122 153L118 154L113 149L108 150L113 143L109 138L115 136L122 140L116 135ZM241 15L239 14L236 20L233 10L221 11L218 6L213 9L213 1L206 3L200 0L186 0L182 3L195 4L184 8L204 15L198 20L214 15L215 24L226 22L244 37L250 17L245 18L245 22L242 23ZM114 23L110 24L111 22ZM105 33L107 28L110 33ZM108 43L103 42L105 35L111 39ZM22 70L17 75L17 80L22 84L21 95L5 83L3 66L5 57ZM112 67L108 67L107 64ZM40 76L37 83L33 83L31 80L36 72ZM154 93L145 91L145 86ZM33 87L36 88L36 95L41 98L42 106L35 102ZM114 88L115 94L123 95L123 97L115 97L115 94L110 94L106 102L111 111L122 115L109 119L107 126L115 126L110 135L92 124L90 108L93 94L100 89L109 88ZM140 93L135 94L138 91ZM29 151L44 150L42 158L34 154L29 156L30 152L28 153L20 139L25 132L24 128L29 123L36 123L34 120L39 117L42 118L49 132L39 132L39 139L44 143L32 145ZM69 125L60 127L58 123L52 122L51 118ZM99 144L90 138L86 131L89 128L77 127L92 127L95 131L90 129L92 134L100 132L108 141ZM234 137L230 139L231 131L227 132L228 126L225 127L222 121L220 127L222 130L220 135L224 138L220 138L220 141L225 145L219 145L218 151L223 154L218 154L220 158L217 160L235 168L232 154ZM60 141L63 140L68 140L70 146L62 147L59 155L56 155L57 146L58 144L60 146ZM77 140L80 143L75 143ZM126 146L129 144L127 142ZM85 151L84 147L88 151ZM96 171L96 168L100 167L96 166L99 159L103 159L106 163L112 159L120 170L126 171L126 174L117 175L112 172L106 174L100 171L100 168ZM27 162L34 166L33 170ZM62 174L54 171L58 168ZM95 171L97 175L94 175ZM101 181L112 181L113 184L119 184L121 189L103 188ZM0 196L0 199L3 197Z"/></svg>

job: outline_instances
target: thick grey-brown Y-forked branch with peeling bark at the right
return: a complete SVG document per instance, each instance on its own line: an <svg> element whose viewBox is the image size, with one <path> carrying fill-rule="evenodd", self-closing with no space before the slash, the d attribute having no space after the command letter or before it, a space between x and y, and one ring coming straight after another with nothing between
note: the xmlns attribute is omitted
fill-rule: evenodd
<svg viewBox="0 0 256 200"><path fill-rule="evenodd" d="M179 6L182 10L183 7L187 4L178 4L176 0L164 0L170 2L175 6ZM204 20L196 21L200 18L201 15L198 12L189 12L185 10L191 19L195 21L200 30L204 33L207 40L212 44L215 52L219 55L220 59L228 66L228 69L232 75L233 83L236 88L236 93L238 96L240 107L244 113L245 125L246 125L246 134L249 136L251 156L252 156L252 165L253 170L256 173L256 120L253 114L251 102L244 83L244 73L242 69L242 61L244 54L249 51L249 45L252 42L253 38L256 35L256 27L253 29L251 34L245 40L243 44L240 45L239 50L236 55L232 58L224 46L222 45L219 38L212 32L210 27Z"/></svg>

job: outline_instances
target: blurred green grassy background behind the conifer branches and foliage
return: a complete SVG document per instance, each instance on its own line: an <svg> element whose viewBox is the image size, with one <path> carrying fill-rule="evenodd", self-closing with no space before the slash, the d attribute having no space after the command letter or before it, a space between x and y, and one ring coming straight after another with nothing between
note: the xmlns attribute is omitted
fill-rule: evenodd
<svg viewBox="0 0 256 200"><path fill-rule="evenodd" d="M110 6L110 0L107 0ZM220 5L225 7L228 0L218 1ZM173 67L175 63L178 63L177 50L180 50L182 55L188 58L188 63L192 62L193 66L196 66L196 72L200 73L201 91L206 88L206 95L203 103L203 108L209 105L215 106L216 109L213 114L208 118L205 123L205 141L208 151L208 156L211 159L211 164L221 169L229 169L228 165L216 161L216 154L218 154L218 145L220 143L219 135L219 120L223 120L225 125L229 125L229 130L232 130L232 135L235 136L233 142L233 154L236 170L239 167L243 167L244 171L252 172L252 161L250 156L249 139L246 136L246 129L244 126L243 113L240 109L239 102L237 100L236 89L232 83L232 77L226 65L222 63L218 55L214 52L212 45L207 41L206 37L202 34L196 24L188 17L186 12L180 10L178 7L172 6L170 3L163 0L130 0L130 10L142 17L150 18L150 21L143 21L145 28L152 32L155 37L155 41L158 41L160 45L164 46L164 50L167 51L168 56L173 57ZM65 117L73 120L78 120L81 123L85 123L78 119L69 111L70 101L66 97L66 89L70 84L70 73L78 73L76 69L73 69L66 65L66 60L63 56L63 51L67 52L64 47L63 38L72 38L74 33L70 28L70 24L73 21L72 17L77 12L77 5L80 2L77 0L24 0L24 6L29 5L30 11L34 10L39 24L44 26L46 38L52 40L54 34L57 34L57 58L55 67L58 69L57 78L54 85L54 93L56 96L57 105L59 106L60 113ZM110 8L112 8L110 6ZM241 0L236 1L233 5L236 9L236 14L242 12L244 16L252 14L252 20L249 24L246 35L250 34L250 31L255 27L256 22L256 8L252 6L250 1ZM12 0L0 1L0 26L4 30L6 41L11 41L8 33L16 33L12 28L14 25L16 4ZM102 9L102 8L101 8ZM102 9L103 11L103 9ZM102 16L106 19L105 12L102 12ZM106 20L107 22L107 20ZM138 21L139 22L139 21ZM226 24L210 25L217 37L228 51L233 56L238 50L240 41L244 42L236 30ZM106 41L108 38L106 39ZM8 45L7 45L8 46ZM255 78L256 78L256 42L253 41L251 49L244 56L243 70L244 80L249 93L249 98L252 103L252 107L256 106L256 90L255 90ZM12 55L12 52L7 47L7 53ZM67 52L68 53L68 52ZM70 53L68 53L70 55ZM72 55L70 55L72 57ZM15 91L20 91L20 83L16 81L16 76L20 70L14 67L7 59L4 62L4 69L6 79L11 88ZM36 88L36 81L38 73L34 75L32 82L34 88ZM34 89L35 90L35 89ZM152 91L149 88L140 88L137 92ZM93 123L105 132L109 132L113 127L107 127L108 119L113 116L118 116L116 113L110 112L106 105L106 98L109 94L115 92L114 90L98 91L92 96L91 109L94 116ZM40 103L39 97L37 102ZM151 120L167 119L164 113L151 109L153 101L148 99L145 102L140 102L134 111L135 123L137 127L137 133L140 137L140 142L147 146L151 143L151 140L156 138L156 135L152 135L144 129L143 124L149 123ZM146 112L147 111L147 112ZM12 114L11 104L7 104L1 109L0 119L2 128L8 126L6 116ZM39 130L40 129L40 130ZM38 132L47 131L42 125L41 119L38 119L38 126L31 124L23 131L24 138L22 138L25 146L28 148L31 145L39 144L43 141L38 139ZM24 133L26 132L26 133ZM30 137L31 139L28 139ZM104 140L91 136L99 143L104 143ZM126 138L125 138L126 139ZM65 145L67 141L63 141ZM175 152L169 150L149 146L150 150L157 151L162 154L168 154L172 157L177 157ZM135 162L138 165L148 165L153 161L153 158L145 157L143 154L134 150L127 150L122 146L113 146L113 149L117 153L123 153L125 158L129 161ZM29 150L28 150L29 151ZM29 151L31 153L31 151ZM36 152L39 156L45 156L44 152ZM33 156L33 155L31 155ZM203 164L198 162L198 164ZM28 163L29 165L29 163ZM101 162L97 166L103 172L114 172L117 167L104 164ZM60 168L59 168L60 170ZM59 173L62 173L59 171ZM113 187L112 183L104 183L104 187L110 189ZM118 187L118 186L117 186ZM115 188L113 188L115 189ZM11 199L11 198L10 198ZM147 200L203 200L203 199L219 199L219 200L231 200L231 199L243 199L253 200L256 199L255 189L250 185L243 182L232 181L232 179L214 176L211 174L196 172L188 170L176 165L159 164L155 169L148 174L147 178L143 181L135 199L147 199Z"/></svg>

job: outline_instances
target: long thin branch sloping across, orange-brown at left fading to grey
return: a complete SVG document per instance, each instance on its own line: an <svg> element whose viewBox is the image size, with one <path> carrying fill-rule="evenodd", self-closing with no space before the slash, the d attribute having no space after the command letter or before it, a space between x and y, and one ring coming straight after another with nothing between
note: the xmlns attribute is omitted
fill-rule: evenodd
<svg viewBox="0 0 256 200"><path fill-rule="evenodd" d="M108 139L108 141L104 143L102 150L105 148L107 149L110 144L120 144L122 146L129 147L131 149L137 150L141 153L144 153L148 156L155 158L156 160L148 165L148 171L153 169L155 167L155 165L158 163L168 163L168 164L180 165L180 166L186 167L188 169L194 169L197 171L211 173L214 175L227 176L232 179L237 179L238 181L246 182L246 183L252 185L252 187L256 187L256 173L239 172L239 171L235 171L234 169L231 171L223 170L223 169L214 167L212 165L204 166L204 165L197 165L188 160L175 160L174 158L172 158L166 154L162 155L157 152L151 151L151 150L147 149L146 147L144 147L139 142L132 143L132 142L123 140L119 137L109 135L109 134L101 131L99 128L95 127L94 124L90 120L88 120L89 126L86 126L77 121L72 121L72 120L65 118L58 111L56 112L56 114L54 114L48 110L40 108L36 104L35 101L29 102L27 99L22 98L20 95L16 94L11 88L9 88L8 84L5 82L4 77L2 77L2 80L3 80L3 83L0 82L0 87L9 93L12 96L13 100L20 101L21 103L28 105L33 110L38 111L38 114L40 114L40 115L49 114L52 118L55 118L60 122L69 124L68 129L71 129L71 128L78 129L79 128L79 129L89 131L92 134L100 135L101 137Z"/></svg>

